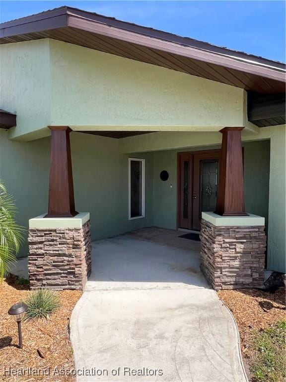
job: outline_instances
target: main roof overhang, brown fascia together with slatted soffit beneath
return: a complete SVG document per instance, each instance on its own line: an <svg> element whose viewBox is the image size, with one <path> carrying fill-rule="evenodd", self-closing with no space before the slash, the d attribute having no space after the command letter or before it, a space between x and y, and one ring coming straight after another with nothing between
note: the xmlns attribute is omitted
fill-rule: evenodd
<svg viewBox="0 0 286 382"><path fill-rule="evenodd" d="M285 64L63 6L0 24L0 43L52 38L264 94L285 93Z"/></svg>

